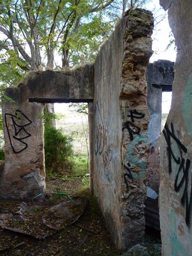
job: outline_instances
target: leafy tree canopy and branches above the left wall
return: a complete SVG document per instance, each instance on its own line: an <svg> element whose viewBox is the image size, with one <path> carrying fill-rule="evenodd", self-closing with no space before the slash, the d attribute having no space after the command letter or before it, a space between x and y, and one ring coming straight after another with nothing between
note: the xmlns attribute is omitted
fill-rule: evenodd
<svg viewBox="0 0 192 256"><path fill-rule="evenodd" d="M126 7L148 0L2 0L0 80L92 61Z"/></svg>

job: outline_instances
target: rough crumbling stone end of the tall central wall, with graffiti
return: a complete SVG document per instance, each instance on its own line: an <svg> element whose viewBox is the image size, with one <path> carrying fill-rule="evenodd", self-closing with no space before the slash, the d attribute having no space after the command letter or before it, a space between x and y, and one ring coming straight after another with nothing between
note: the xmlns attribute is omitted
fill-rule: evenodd
<svg viewBox="0 0 192 256"><path fill-rule="evenodd" d="M153 17L147 11L131 11L129 21L124 36L120 96L123 110L122 236L126 247L139 241L145 230L149 123L146 68L152 54Z"/></svg>

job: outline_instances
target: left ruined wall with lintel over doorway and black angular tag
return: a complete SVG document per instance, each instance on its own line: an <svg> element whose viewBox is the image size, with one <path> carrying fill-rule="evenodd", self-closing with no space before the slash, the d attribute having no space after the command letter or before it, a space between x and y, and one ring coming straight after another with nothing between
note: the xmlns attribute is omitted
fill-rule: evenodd
<svg viewBox="0 0 192 256"><path fill-rule="evenodd" d="M2 105L5 166L0 173L0 197L30 198L45 190L44 136L41 99L93 99L93 66L70 73L31 73L17 87L6 89L14 102Z"/></svg>

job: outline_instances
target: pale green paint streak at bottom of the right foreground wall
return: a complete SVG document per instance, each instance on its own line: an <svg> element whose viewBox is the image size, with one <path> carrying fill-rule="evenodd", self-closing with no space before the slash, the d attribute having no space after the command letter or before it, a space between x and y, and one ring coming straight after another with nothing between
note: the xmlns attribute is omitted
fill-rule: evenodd
<svg viewBox="0 0 192 256"><path fill-rule="evenodd" d="M178 256L178 252L182 256L190 256L191 254L189 254L187 252L187 250L183 247L183 245L181 244L181 242L177 238L177 218L176 218L176 215L175 215L173 209L171 209L170 218L171 218L170 239L171 239L171 247L172 247L171 256Z"/></svg>

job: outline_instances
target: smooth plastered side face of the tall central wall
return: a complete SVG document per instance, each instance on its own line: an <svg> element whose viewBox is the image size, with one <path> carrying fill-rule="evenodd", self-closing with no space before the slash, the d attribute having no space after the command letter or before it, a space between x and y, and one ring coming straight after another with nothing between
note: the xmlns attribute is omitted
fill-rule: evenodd
<svg viewBox="0 0 192 256"><path fill-rule="evenodd" d="M122 248L120 197L122 113L119 106L123 36L127 18L101 47L94 65L93 191L116 246Z"/></svg>

